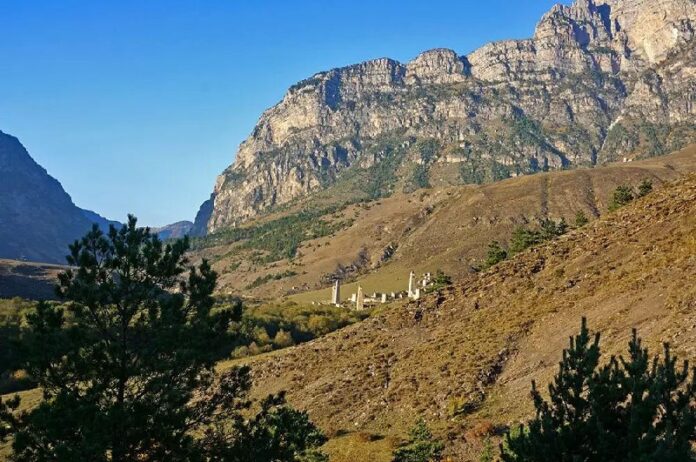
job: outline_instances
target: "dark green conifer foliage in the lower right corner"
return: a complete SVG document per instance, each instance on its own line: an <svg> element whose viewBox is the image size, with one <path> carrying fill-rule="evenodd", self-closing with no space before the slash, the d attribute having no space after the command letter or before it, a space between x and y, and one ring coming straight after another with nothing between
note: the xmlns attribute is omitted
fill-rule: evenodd
<svg viewBox="0 0 696 462"><path fill-rule="evenodd" d="M678 367L668 345L651 361L635 330L628 357L600 366L599 334L583 319L549 396L532 383L536 417L506 436L504 462L693 460L696 370Z"/></svg>

